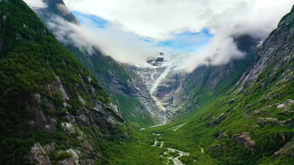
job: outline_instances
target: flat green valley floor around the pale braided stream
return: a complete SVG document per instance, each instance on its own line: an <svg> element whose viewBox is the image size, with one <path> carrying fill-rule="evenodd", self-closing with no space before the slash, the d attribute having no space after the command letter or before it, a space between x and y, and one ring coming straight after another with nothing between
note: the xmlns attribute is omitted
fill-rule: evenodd
<svg viewBox="0 0 294 165"><path fill-rule="evenodd" d="M126 165L217 165L197 143L187 141L176 125L164 125L135 131L136 140L122 142L119 145L109 144L110 153L117 157L108 164ZM115 146L115 147L114 147ZM123 155L121 155L124 153Z"/></svg>

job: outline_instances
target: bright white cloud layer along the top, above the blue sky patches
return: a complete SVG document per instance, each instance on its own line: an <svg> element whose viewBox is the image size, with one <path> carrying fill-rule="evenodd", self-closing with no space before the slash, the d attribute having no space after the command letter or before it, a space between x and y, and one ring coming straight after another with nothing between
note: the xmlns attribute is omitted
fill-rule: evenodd
<svg viewBox="0 0 294 165"><path fill-rule="evenodd" d="M293 4L293 0L64 1L70 10L118 21L126 31L161 40L170 39L170 32L215 31L234 21L273 29ZM240 30L252 30L248 25Z"/></svg>

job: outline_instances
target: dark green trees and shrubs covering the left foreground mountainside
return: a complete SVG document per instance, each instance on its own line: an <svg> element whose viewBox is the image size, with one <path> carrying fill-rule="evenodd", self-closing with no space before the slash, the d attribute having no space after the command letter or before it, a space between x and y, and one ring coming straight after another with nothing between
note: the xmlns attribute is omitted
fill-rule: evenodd
<svg viewBox="0 0 294 165"><path fill-rule="evenodd" d="M77 114L80 107L92 109L92 100L110 103L111 98L22 0L0 1L0 11L0 164L31 164L28 154L35 143L55 142L56 151L80 149L84 143L78 138L81 125L74 126L75 133L68 133L60 123L69 122L65 115ZM59 81L70 97L66 107L60 89L56 89ZM89 94L91 89L94 92ZM58 123L56 128L44 130L33 123L46 120ZM123 134L122 130L98 129L88 128L84 136L101 143L101 132L110 134L111 140ZM102 157L98 145L93 146L93 155ZM54 152L49 156L54 161L71 157Z"/></svg>

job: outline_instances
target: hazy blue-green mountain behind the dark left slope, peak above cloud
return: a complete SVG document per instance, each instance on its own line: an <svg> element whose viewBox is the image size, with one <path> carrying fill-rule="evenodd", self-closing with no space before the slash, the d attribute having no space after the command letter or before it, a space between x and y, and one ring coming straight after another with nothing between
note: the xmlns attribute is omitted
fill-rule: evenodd
<svg viewBox="0 0 294 165"><path fill-rule="evenodd" d="M46 0L44 2L48 4L47 8L34 9L34 11L40 15L45 24L52 16L60 16L66 21L80 24L62 0ZM102 83L131 125L141 128L162 120L163 114L158 111L154 100L148 93L147 86L128 65L121 64L110 56L104 55L99 48L93 47L94 51L89 53L76 47L74 43L64 44Z"/></svg>

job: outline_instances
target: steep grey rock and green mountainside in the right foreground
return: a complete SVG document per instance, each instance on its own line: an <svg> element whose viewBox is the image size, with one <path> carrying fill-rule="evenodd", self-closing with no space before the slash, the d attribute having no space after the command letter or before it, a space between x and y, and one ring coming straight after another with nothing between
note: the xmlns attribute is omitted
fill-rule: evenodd
<svg viewBox="0 0 294 165"><path fill-rule="evenodd" d="M251 152L232 157L231 163L247 159L248 163L261 164L264 157L280 164L293 156L293 10L263 42L239 82L206 110L205 117L199 115L198 121L193 121L206 123L211 135L219 137L211 148L213 155L233 154L223 149L236 143ZM254 157L260 160L254 162Z"/></svg>

